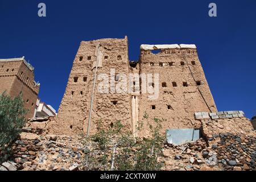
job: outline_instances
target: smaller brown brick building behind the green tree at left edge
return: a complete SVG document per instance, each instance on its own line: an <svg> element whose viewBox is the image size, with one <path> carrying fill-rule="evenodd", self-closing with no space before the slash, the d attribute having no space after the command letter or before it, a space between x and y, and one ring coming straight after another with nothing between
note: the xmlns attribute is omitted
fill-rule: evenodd
<svg viewBox="0 0 256 182"><path fill-rule="evenodd" d="M28 109L26 118L34 116L39 85L34 81L34 68L24 57L0 59L0 94L5 91L11 97L22 92L24 107Z"/></svg>

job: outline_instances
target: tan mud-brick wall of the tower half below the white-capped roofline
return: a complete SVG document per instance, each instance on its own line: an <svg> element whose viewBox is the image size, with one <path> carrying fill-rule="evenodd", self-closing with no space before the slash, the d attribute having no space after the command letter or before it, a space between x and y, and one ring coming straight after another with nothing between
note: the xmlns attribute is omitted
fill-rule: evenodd
<svg viewBox="0 0 256 182"><path fill-rule="evenodd" d="M181 51L187 61L184 60ZM181 65L181 62L184 65ZM200 85L197 86L189 68L195 80L200 81ZM199 110L209 111L209 109L199 89L210 109L217 110L195 48L164 48L156 54L151 50L141 49L140 73L159 73L159 98L148 100L150 94L141 94L139 119L142 121L145 112L151 121L154 117L166 119L163 133L167 128L201 126L193 114ZM163 82L166 83L166 87L162 86ZM172 82L175 82L176 86ZM183 82L187 85L183 86ZM152 105L155 109L152 109ZM140 135L147 135L149 130L145 130L146 132L143 131Z"/></svg>

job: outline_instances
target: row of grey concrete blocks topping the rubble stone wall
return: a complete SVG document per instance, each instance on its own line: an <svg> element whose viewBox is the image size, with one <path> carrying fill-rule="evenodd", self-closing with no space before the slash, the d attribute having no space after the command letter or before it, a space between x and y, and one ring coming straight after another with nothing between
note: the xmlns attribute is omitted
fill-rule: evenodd
<svg viewBox="0 0 256 182"><path fill-rule="evenodd" d="M195 113L196 119L223 119L223 118L242 118L245 117L243 111L218 111L216 113L199 112Z"/></svg>

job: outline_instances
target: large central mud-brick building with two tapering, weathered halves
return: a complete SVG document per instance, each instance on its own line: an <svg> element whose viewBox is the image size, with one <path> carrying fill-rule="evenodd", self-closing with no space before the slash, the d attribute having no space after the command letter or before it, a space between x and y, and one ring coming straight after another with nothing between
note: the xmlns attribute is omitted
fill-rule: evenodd
<svg viewBox="0 0 256 182"><path fill-rule="evenodd" d="M137 93L112 93L111 82L119 80L118 76L111 76L112 69L115 75L123 73L127 78L131 73L157 73L159 96L150 100L150 94L142 90L141 79L139 85L133 85L139 88ZM104 94L98 91L98 84L102 81L99 75L102 73L108 77L110 85ZM94 76L97 77L95 84ZM128 81L128 88L130 84ZM152 82L147 80L146 84L146 88L157 86L154 79ZM85 134L91 103L90 133L96 131L96 123L100 120L104 126L120 120L125 129L134 132L145 112L148 119L166 119L163 133L172 127L200 127L200 121L194 117L196 111L217 111L195 45L142 45L139 61L129 61L127 37L81 42L59 114L49 130L59 134ZM135 135L143 136L148 132L145 125L143 131Z"/></svg>

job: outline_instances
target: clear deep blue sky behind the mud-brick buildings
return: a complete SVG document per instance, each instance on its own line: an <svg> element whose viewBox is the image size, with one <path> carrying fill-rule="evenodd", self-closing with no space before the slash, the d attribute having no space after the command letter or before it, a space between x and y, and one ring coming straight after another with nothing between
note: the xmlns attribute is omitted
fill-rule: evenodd
<svg viewBox="0 0 256 182"><path fill-rule="evenodd" d="M38 3L47 17L38 17ZM217 17L208 16L210 2ZM256 114L256 1L0 0L0 58L26 56L39 97L57 110L81 40L129 39L141 44L196 44L218 110Z"/></svg>

